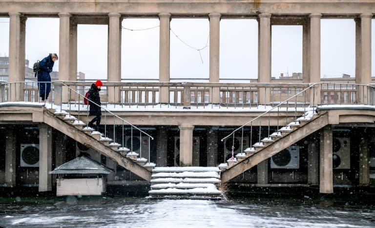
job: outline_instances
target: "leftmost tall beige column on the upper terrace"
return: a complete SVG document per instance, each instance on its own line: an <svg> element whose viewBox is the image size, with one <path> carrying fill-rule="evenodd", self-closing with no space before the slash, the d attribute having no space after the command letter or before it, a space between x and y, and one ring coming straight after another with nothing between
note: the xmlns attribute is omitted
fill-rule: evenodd
<svg viewBox="0 0 375 228"><path fill-rule="evenodd" d="M21 25L21 14L18 12L9 13L9 81L22 82L24 81L24 67L25 67L25 53L24 53L24 25ZM23 29L22 29L23 28ZM23 30L23 32L22 32ZM23 44L21 42L23 41ZM21 54L23 49L23 54ZM23 75L21 68L23 67ZM10 101L20 101L21 99L21 84L11 84Z"/></svg>

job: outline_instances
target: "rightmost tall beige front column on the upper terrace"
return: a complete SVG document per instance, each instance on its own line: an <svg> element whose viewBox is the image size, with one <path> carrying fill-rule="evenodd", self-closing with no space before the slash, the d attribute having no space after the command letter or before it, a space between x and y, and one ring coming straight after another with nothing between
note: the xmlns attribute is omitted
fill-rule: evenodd
<svg viewBox="0 0 375 228"><path fill-rule="evenodd" d="M371 19L373 14L361 14L361 37L360 37L360 75L359 80L355 77L355 81L359 84L371 83ZM368 104L368 94L366 87L359 88L358 101L361 104Z"/></svg>

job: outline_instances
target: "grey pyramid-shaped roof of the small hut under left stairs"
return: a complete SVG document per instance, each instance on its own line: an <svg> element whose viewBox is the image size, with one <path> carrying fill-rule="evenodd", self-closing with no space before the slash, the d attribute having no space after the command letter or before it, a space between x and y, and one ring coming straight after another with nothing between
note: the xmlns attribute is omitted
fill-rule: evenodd
<svg viewBox="0 0 375 228"><path fill-rule="evenodd" d="M75 158L61 166L56 167L50 174L109 174L113 172L108 168L88 157Z"/></svg>

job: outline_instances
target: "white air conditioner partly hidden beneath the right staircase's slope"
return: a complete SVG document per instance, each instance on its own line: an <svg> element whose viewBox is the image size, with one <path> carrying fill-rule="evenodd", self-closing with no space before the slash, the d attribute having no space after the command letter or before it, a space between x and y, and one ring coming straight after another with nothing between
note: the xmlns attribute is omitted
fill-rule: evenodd
<svg viewBox="0 0 375 228"><path fill-rule="evenodd" d="M291 145L273 155L271 168L299 168L299 146Z"/></svg>

